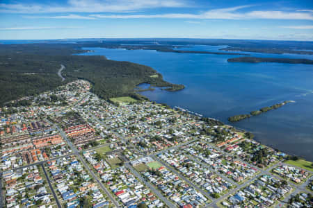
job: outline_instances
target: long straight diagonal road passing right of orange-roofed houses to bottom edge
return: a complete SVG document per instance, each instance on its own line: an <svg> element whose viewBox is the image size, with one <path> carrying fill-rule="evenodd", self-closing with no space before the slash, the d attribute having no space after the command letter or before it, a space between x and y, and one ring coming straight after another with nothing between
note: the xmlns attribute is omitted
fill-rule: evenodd
<svg viewBox="0 0 313 208"><path fill-rule="evenodd" d="M118 206L118 202L116 202L116 200L111 196L111 193L109 193L109 191L106 189L106 187L104 187L104 185L102 184L102 182L100 182L99 178L95 175L95 173L93 173L93 171L90 170L88 164L86 164L85 159L83 159L83 157L81 157L81 155L79 154L79 150L77 150L77 148L75 146L73 146L72 142L70 142L67 139L67 136L65 135L65 133L63 132L63 130L61 130L61 128L58 128L57 125L54 125L57 129L58 132L60 132L61 136L65 139L65 141L67 142L67 144L70 146L70 148L72 149L72 151L74 152L75 155L77 155L77 157L79 157L79 159L81 160L81 162L83 163L83 166L85 166L85 168L88 170L88 172L90 173L90 175L93 176L93 178L95 178L95 180L97 181L97 183L99 184L99 186L102 188L102 190L106 193L107 196L109 196L111 202L113 202L113 204L115 205L115 207L119 207Z"/></svg>

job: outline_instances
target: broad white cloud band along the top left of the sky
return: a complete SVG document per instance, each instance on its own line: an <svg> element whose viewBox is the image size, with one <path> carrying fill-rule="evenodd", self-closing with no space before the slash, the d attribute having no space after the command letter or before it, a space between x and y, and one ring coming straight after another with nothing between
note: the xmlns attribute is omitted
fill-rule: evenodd
<svg viewBox="0 0 313 208"><path fill-rule="evenodd" d="M9 13L56 13L56 12L127 12L145 8L186 7L184 0L68 0L65 6L0 3L0 12Z"/></svg>

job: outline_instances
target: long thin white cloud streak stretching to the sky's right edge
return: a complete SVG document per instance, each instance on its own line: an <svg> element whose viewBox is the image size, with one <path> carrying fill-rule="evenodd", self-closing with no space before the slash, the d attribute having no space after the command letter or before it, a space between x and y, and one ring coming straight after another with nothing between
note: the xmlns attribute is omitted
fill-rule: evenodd
<svg viewBox="0 0 313 208"><path fill-rule="evenodd" d="M282 11L251 11L238 12L250 6L236 6L209 10L199 14L168 13L161 15L90 15L97 18L111 19L140 19L140 18L168 18L168 19L307 19L313 20L313 15L307 12L282 12Z"/></svg>

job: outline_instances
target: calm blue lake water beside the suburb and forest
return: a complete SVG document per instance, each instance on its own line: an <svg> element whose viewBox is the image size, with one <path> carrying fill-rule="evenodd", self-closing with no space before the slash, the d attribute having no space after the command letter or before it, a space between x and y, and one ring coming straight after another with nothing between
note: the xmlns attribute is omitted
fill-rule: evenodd
<svg viewBox="0 0 313 208"><path fill-rule="evenodd" d="M221 46L192 46L181 50L218 51ZM147 50L101 49L84 55L106 55L153 67L170 83L186 89L159 89L142 94L152 101L185 107L220 119L246 114L260 107L293 100L278 110L232 123L249 130L255 139L313 161L313 67L305 64L228 63L240 55L163 53ZM308 58L313 55L250 53L259 57Z"/></svg>

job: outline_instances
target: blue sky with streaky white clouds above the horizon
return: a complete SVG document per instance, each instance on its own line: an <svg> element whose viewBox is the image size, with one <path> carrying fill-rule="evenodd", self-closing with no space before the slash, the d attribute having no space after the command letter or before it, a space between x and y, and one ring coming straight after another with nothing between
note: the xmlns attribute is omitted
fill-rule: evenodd
<svg viewBox="0 0 313 208"><path fill-rule="evenodd" d="M109 37L313 41L313 1L0 0L0 40Z"/></svg>

